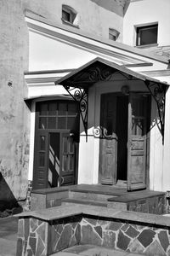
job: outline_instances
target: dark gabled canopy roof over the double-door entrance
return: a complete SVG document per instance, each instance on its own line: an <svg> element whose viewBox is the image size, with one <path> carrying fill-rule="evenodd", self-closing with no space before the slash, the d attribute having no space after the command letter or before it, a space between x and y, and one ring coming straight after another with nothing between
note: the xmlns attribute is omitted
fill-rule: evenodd
<svg viewBox="0 0 170 256"><path fill-rule="evenodd" d="M117 65L114 62L107 61L102 58L95 58L93 61L89 61L77 70L67 74L64 78L59 79L55 84L61 84L65 86L77 87L80 89L88 89L98 81L109 80L111 75L116 72L122 73L126 79L140 79L145 83L154 82L156 84L165 84L160 80L152 79L140 73L133 72L127 67Z"/></svg>

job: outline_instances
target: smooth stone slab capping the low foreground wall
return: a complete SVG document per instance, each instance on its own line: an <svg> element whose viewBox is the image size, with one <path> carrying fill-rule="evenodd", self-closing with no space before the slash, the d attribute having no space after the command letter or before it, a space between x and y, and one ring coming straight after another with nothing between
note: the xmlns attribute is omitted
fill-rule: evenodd
<svg viewBox="0 0 170 256"><path fill-rule="evenodd" d="M23 212L15 215L17 218L38 218L46 222L60 218L69 218L73 216L93 216L94 218L114 218L132 223L150 224L156 226L170 227L170 218L162 215L117 211L116 208L94 207L94 206L60 206L44 209L35 212Z"/></svg>

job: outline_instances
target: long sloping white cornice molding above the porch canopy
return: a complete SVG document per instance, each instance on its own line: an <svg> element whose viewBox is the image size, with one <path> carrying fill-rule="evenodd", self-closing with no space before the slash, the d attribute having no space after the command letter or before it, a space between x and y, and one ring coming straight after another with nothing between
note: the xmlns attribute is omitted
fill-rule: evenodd
<svg viewBox="0 0 170 256"><path fill-rule="evenodd" d="M43 19L42 17L39 17L37 15L32 15L29 12L26 12L26 22L29 28L35 30L34 32L36 31L44 32L48 36L51 36L52 38L60 38L62 40L65 40L65 43L68 41L68 43L80 45L86 48L87 50L92 48L92 50L97 51L101 54L110 55L110 56L113 55L113 57L116 57L118 59L119 58L122 59L123 57L125 57L127 61L131 63L138 63L138 62L141 63L141 62L147 62L147 61L141 61L139 58L136 58L136 57L129 58L128 55L124 55L123 53L122 54L117 53L115 50L119 49L119 50L125 51L126 53L132 53L133 55L138 55L144 58L161 61L162 63L165 63L165 64L167 64L168 62L167 57L153 55L145 51L135 49L132 46L128 46L126 44L121 44L115 41L112 42L109 39L104 40L103 38L93 37L92 35L78 32L77 29L75 28L68 29L68 28L65 28L65 26L59 26L58 24L55 24L46 19ZM49 29L48 26L51 26L51 29ZM76 37L72 37L72 35L64 35L62 31L68 32L71 34L73 33L77 35L79 39L77 39ZM80 37L81 37L81 40L80 40ZM85 40L83 40L83 38L86 38L92 42L90 43L84 42ZM100 44L100 46L95 45L96 42ZM113 47L113 49L105 49L105 46Z"/></svg>

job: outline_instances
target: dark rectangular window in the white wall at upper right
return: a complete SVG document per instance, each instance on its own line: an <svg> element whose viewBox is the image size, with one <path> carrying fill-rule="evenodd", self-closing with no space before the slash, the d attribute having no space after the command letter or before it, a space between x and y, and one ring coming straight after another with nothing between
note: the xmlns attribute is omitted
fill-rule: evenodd
<svg viewBox="0 0 170 256"><path fill-rule="evenodd" d="M157 44L157 28L157 24L136 27L136 45Z"/></svg>

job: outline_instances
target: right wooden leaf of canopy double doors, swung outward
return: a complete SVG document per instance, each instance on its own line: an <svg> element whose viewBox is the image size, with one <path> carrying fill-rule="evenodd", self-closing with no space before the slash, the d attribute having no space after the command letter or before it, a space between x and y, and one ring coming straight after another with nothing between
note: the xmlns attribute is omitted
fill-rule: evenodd
<svg viewBox="0 0 170 256"><path fill-rule="evenodd" d="M131 94L128 102L127 190L146 187L147 96Z"/></svg>

